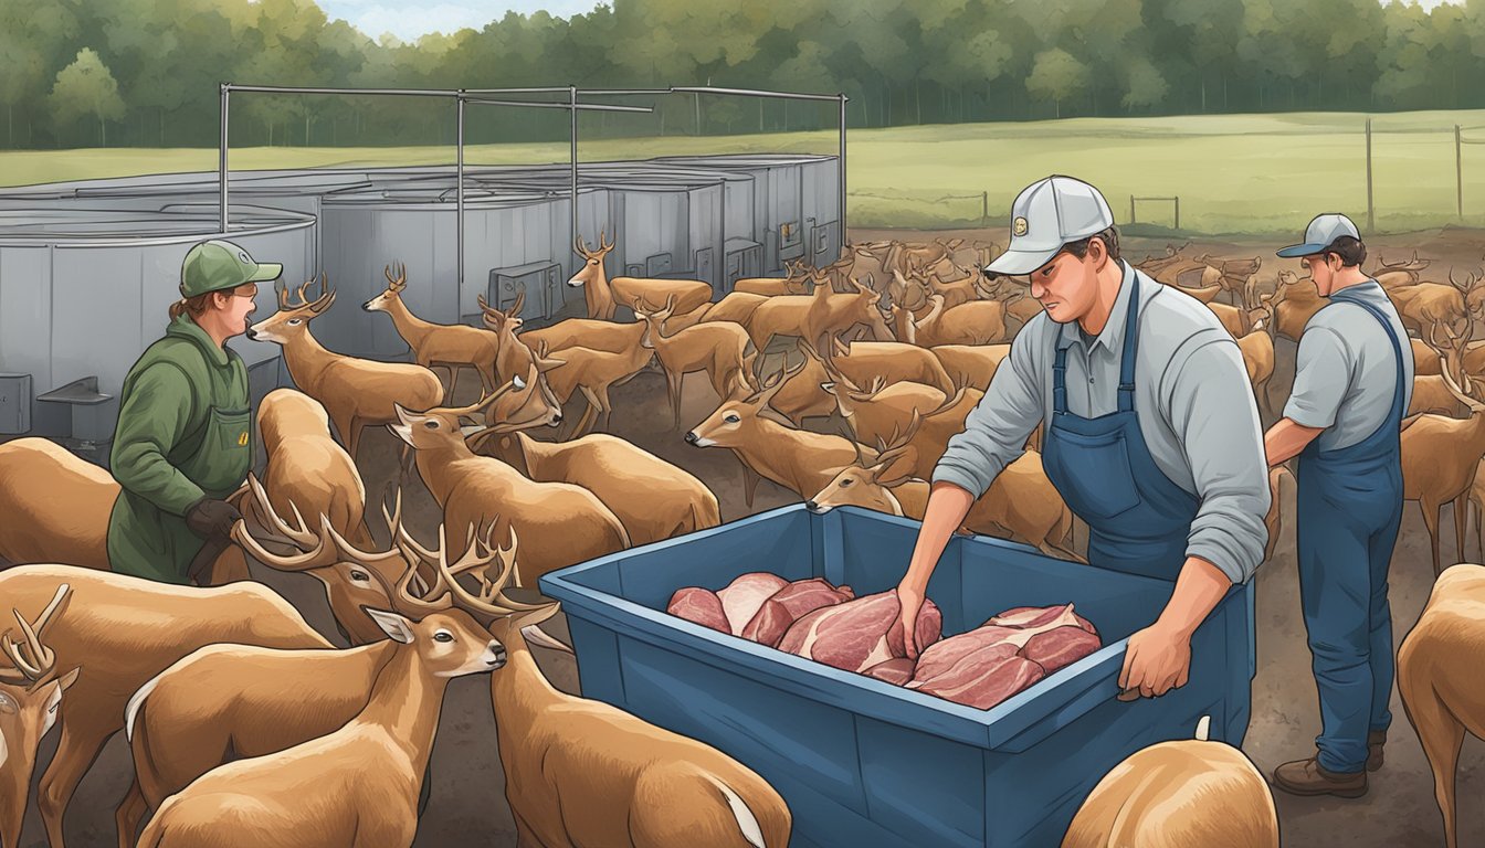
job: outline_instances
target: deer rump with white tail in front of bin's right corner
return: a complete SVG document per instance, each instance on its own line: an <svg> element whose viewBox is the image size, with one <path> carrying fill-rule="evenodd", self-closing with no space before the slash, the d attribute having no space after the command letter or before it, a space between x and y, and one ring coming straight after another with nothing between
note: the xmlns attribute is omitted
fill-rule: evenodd
<svg viewBox="0 0 1485 848"><path fill-rule="evenodd" d="M1207 741L1158 743L1114 766L1078 808L1062 848L1279 848L1274 796L1252 760Z"/></svg>

